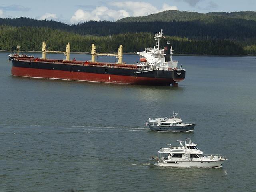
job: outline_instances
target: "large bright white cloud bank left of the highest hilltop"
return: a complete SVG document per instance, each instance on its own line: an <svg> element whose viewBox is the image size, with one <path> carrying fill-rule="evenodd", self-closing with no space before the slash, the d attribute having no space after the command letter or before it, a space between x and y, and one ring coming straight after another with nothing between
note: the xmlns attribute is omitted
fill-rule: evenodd
<svg viewBox="0 0 256 192"><path fill-rule="evenodd" d="M82 9L76 10L70 21L78 23L80 21L89 20L110 20L115 21L128 16L146 16L166 10L178 10L176 6L169 6L164 3L162 9L158 9L147 2L109 2L109 6L116 9L110 9L106 6L96 7L92 11L84 11Z"/></svg>

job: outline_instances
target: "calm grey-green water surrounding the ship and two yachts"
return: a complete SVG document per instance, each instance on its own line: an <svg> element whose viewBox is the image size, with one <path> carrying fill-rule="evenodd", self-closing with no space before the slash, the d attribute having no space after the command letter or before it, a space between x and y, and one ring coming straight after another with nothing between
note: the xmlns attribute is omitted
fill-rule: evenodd
<svg viewBox="0 0 256 192"><path fill-rule="evenodd" d="M0 192L255 191L255 57L174 56L186 79L158 87L13 77L8 54L0 52ZM145 127L172 111L196 123L191 135ZM165 143L190 136L228 161L221 168L150 164Z"/></svg>

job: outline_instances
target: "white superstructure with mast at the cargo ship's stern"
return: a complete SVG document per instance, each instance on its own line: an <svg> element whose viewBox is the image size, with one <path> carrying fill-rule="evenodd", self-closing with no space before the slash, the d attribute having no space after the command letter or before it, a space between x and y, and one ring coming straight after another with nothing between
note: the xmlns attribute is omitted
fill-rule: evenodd
<svg viewBox="0 0 256 192"><path fill-rule="evenodd" d="M172 47L170 48L170 61L165 60L164 49L160 49L160 40L163 37L163 30L156 33L154 39L157 41L153 48L146 48L145 51L138 51L140 62L137 63L143 69L148 70L177 70L178 61L172 60Z"/></svg>

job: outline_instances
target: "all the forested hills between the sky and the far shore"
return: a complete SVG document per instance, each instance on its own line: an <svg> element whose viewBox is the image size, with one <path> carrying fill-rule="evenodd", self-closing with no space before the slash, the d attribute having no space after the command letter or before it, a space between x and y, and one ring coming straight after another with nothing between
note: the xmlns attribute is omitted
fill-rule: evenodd
<svg viewBox="0 0 256 192"><path fill-rule="evenodd" d="M0 18L0 50L41 50L46 41L49 50L90 52L92 43L98 52L136 52L154 45L155 32L164 30L178 54L243 55L256 54L256 12L164 11L145 17L128 17L116 22L89 21L68 25L62 22L30 18ZM162 45L163 46L163 45Z"/></svg>

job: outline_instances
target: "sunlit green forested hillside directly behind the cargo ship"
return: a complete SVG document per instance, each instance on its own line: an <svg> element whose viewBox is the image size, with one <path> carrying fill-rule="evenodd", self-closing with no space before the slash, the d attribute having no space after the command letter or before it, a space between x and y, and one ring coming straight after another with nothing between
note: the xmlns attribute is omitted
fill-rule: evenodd
<svg viewBox="0 0 256 192"><path fill-rule="evenodd" d="M82 36L44 27L1 26L0 48L2 50L15 50L18 44L22 47L21 50L41 50L42 42L46 41L49 50L64 51L67 42L70 42L71 50L76 52L90 52L92 43L96 44L98 52L117 52L120 44L124 46L124 52L136 52L149 47L152 37L153 34L146 32L128 32L112 36ZM245 54L241 45L230 40L189 40L188 38L166 36L161 47L167 40L172 43L175 53L179 54Z"/></svg>

